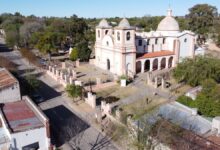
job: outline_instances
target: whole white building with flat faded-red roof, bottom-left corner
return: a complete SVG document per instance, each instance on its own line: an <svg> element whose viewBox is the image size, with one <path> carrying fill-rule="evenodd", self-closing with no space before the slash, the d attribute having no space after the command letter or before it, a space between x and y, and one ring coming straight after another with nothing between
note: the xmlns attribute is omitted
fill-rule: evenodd
<svg viewBox="0 0 220 150"><path fill-rule="evenodd" d="M28 97L2 104L0 107L1 150L51 148L49 121Z"/></svg>

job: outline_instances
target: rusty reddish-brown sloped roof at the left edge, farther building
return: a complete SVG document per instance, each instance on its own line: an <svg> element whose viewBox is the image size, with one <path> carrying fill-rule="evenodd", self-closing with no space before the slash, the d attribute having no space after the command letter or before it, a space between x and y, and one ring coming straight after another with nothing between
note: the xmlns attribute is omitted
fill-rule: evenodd
<svg viewBox="0 0 220 150"><path fill-rule="evenodd" d="M5 68L0 68L0 89L17 83L17 79Z"/></svg>

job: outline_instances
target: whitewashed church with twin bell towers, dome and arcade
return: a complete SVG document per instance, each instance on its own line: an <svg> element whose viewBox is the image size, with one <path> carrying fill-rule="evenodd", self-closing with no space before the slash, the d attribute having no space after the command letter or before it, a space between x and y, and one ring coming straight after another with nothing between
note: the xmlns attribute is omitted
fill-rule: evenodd
<svg viewBox="0 0 220 150"><path fill-rule="evenodd" d="M102 19L96 27L95 65L111 73L134 77L138 73L173 68L196 55L196 36L180 31L167 10L156 31L139 32L126 18L116 27Z"/></svg>

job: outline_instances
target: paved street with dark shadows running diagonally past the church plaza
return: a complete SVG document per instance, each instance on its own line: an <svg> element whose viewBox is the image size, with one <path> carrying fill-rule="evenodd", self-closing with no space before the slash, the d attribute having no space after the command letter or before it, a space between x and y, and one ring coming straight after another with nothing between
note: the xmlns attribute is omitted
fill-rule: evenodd
<svg viewBox="0 0 220 150"><path fill-rule="evenodd" d="M18 51L5 50L4 45L0 45L0 55L18 64L20 75L27 69L33 69L33 66L23 59ZM38 69L34 69L35 73L40 72ZM73 147L80 147L83 150L117 149L108 138L90 125L88 113L79 114L69 105L70 100L62 95L60 85L44 75L40 76L39 80L42 86L38 91L45 99L43 103L39 104L39 107L50 119L51 141L54 145L63 146L65 150L68 148L73 149ZM72 148L68 145L72 145Z"/></svg>

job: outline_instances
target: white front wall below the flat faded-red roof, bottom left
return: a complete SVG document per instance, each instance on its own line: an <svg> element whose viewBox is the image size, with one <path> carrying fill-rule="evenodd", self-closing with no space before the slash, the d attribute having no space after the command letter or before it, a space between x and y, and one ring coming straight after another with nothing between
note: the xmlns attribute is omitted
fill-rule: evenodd
<svg viewBox="0 0 220 150"><path fill-rule="evenodd" d="M50 146L50 141L46 136L45 127L25 132L12 133L11 138L11 145L13 148L17 148L18 150L21 150L22 147L36 142L39 143L39 150L47 150ZM16 147L14 147L15 145Z"/></svg>

